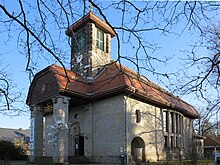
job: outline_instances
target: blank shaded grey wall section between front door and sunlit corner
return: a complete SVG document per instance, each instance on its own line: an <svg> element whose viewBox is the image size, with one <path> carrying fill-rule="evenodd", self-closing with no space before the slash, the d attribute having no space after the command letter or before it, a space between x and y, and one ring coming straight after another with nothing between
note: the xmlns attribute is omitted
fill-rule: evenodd
<svg viewBox="0 0 220 165"><path fill-rule="evenodd" d="M94 155L119 156L125 144L125 109L122 95L94 103Z"/></svg>

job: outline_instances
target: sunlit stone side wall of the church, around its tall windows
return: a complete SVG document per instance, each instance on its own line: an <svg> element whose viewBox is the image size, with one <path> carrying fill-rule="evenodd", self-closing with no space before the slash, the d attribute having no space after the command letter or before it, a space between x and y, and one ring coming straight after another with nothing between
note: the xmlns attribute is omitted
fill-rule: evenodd
<svg viewBox="0 0 220 165"><path fill-rule="evenodd" d="M145 143L145 148L141 151L143 161L154 162L166 159L181 160L192 158L190 157L192 147L191 119L183 116L183 132L181 133L183 141L180 142L182 144L164 148L163 109L133 98L125 98L127 108L127 155L129 162L133 160L131 143L136 137L143 139ZM140 123L137 122L136 110L141 113Z"/></svg>

